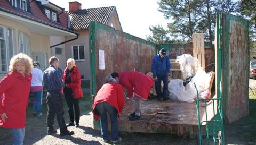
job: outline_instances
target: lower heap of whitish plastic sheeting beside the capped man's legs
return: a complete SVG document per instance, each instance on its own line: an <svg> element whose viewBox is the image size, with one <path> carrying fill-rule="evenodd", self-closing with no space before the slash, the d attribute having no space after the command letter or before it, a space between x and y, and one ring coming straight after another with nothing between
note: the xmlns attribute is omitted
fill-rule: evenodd
<svg viewBox="0 0 256 145"><path fill-rule="evenodd" d="M185 90L181 79L171 80L168 84L169 97L173 101L193 102L193 96Z"/></svg>

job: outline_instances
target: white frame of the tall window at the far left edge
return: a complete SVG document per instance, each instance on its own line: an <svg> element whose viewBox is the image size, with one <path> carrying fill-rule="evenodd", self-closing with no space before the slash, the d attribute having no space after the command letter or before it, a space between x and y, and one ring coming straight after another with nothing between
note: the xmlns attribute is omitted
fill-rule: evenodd
<svg viewBox="0 0 256 145"><path fill-rule="evenodd" d="M9 27L5 27L4 25L0 25L1 28L3 28L3 37L0 37L0 40L4 40L4 45L5 45L5 48L4 48L4 51L5 51L5 54L3 56L5 56L5 71L2 71L2 66L0 66L0 74L6 74L9 72L9 69L8 69L8 66L9 66L9 60L10 60L10 57L13 56L13 29L9 28ZM8 29L12 30L12 48L10 48L9 46L9 37L7 35L7 31ZM10 49L12 49L12 54L10 54ZM1 54L1 49L0 49L0 54ZM2 55L0 55L0 63L1 65L3 65L2 63Z"/></svg>

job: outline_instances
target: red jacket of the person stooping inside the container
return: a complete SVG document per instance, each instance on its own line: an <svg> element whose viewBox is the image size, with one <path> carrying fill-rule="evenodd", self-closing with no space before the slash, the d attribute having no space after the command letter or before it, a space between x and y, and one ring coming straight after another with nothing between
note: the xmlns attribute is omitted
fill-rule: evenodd
<svg viewBox="0 0 256 145"><path fill-rule="evenodd" d="M138 98L147 100L150 90L154 84L154 79L149 75L137 72L121 72L118 73L119 84L126 87L129 92L127 97L131 98L134 95Z"/></svg>

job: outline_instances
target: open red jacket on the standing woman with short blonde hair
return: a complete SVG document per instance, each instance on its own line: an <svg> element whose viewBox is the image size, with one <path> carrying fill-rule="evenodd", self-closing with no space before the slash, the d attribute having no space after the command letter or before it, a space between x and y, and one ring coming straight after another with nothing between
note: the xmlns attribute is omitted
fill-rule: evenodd
<svg viewBox="0 0 256 145"><path fill-rule="evenodd" d="M62 80L65 82L66 74L68 71L68 67L63 71ZM81 74L76 65L73 67L73 71L71 72L71 83L67 83L68 88L72 88L72 93L75 99L83 97L83 91L81 88ZM61 90L63 92L63 89Z"/></svg>

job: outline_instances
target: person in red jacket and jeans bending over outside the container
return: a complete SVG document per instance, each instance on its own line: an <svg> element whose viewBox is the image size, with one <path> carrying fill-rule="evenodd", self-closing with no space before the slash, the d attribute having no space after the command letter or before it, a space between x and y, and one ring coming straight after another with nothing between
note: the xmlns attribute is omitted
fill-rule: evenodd
<svg viewBox="0 0 256 145"><path fill-rule="evenodd" d="M94 120L97 122L100 118L101 136L104 142L108 141L108 119L107 113L110 116L111 121L111 140L113 143L121 141L118 137L118 120L117 116L122 112L124 108L124 92L120 84L116 83L116 80L108 75L105 84L100 88L95 96L93 103Z"/></svg>

